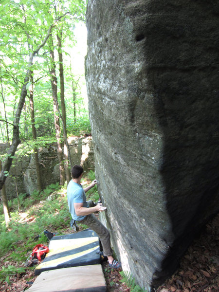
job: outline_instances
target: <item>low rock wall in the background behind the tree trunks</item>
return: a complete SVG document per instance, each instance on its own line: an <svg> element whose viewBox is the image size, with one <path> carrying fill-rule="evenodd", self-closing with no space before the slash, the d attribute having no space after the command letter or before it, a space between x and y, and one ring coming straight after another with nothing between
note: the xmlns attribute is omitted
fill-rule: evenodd
<svg viewBox="0 0 219 292"><path fill-rule="evenodd" d="M70 137L68 139L73 164L83 165L85 171L94 170L92 137ZM0 145L0 153L7 151L6 144ZM21 146L22 147L22 146ZM59 182L59 165L56 146L41 147L38 149L42 187ZM17 154L16 154L17 155ZM18 155L17 155L18 156ZM24 155L14 160L5 186L8 199L16 197L16 184L18 194L31 194L37 189L37 173L33 155Z"/></svg>

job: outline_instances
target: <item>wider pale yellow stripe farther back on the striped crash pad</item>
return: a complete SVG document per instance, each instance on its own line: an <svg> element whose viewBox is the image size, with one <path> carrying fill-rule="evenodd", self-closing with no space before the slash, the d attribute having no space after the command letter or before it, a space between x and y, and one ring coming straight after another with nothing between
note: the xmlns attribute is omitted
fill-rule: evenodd
<svg viewBox="0 0 219 292"><path fill-rule="evenodd" d="M48 258L49 256L53 256L53 255L59 254L59 253L67 252L67 251L70 251L70 250L74 250L76 248L85 246L87 244L91 244L93 242L98 242L98 244L99 244L98 237L86 237L86 238L83 238L83 239L86 239L86 240L84 240L84 242L81 242L81 238L77 238L77 240L72 240L73 242L71 242L71 245L68 245L68 246L65 245L65 242L63 242L63 240L68 240L69 241L70 239L57 240L57 241L59 241L59 245L61 247L55 247L55 245L54 245L54 247L50 248L50 246L49 246L49 250L50 251L46 255L46 258ZM50 245L51 245L51 242L50 242Z"/></svg>

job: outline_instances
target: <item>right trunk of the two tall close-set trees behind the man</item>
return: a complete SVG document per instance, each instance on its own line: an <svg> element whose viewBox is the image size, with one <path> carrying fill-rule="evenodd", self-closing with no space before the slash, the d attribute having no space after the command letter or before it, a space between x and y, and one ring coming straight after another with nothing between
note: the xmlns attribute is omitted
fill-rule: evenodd
<svg viewBox="0 0 219 292"><path fill-rule="evenodd" d="M67 127L66 127L66 109L65 109L65 87L64 87L64 70L63 70L63 58L62 58L62 29L60 30L60 37L57 34L58 40L58 60L59 60L59 77L60 77L60 99L61 99L61 110L62 110L62 127L63 127L63 136L64 136L64 158L65 158L65 174L67 184L71 180L70 170L69 170L69 157L68 153L68 139L67 139ZM69 159L70 158L70 159Z"/></svg>

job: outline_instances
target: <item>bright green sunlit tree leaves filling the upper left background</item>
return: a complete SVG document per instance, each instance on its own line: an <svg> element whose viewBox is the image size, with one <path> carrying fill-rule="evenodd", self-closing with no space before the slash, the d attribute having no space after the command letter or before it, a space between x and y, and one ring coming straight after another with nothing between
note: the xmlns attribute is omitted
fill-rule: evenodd
<svg viewBox="0 0 219 292"><path fill-rule="evenodd" d="M85 20L85 11L86 3L84 0L4 0L0 5L0 27L2 28L0 31L0 108L2 109L0 112L0 142L7 141L7 134L9 134L9 139L12 138L11 129L13 129L13 120L27 69L33 71L37 136L54 134L53 101L50 73L48 73L49 45L47 42L43 46L43 40L50 27L53 27L52 34L54 36L58 34L60 37L60 31L63 30L62 52L64 53L65 89L66 92L71 92L72 83L75 81L69 77L72 75L72 70L69 67L70 54L68 51L75 43L73 32L75 22ZM56 40L55 37L54 40ZM56 43L54 46L56 49ZM30 55L39 47L41 49L33 60L33 64L29 63ZM28 80L26 82L28 91L30 84L31 82ZM66 106L72 109L73 101L68 99L67 95L66 101L69 105ZM79 91L77 95L77 100L80 100L81 93ZM79 104L83 104L83 101L80 101ZM77 107L78 116L81 108ZM6 120L10 124L7 124ZM6 125L9 131L7 131ZM31 126L30 105L28 98L26 98L19 123L21 140L31 138Z"/></svg>

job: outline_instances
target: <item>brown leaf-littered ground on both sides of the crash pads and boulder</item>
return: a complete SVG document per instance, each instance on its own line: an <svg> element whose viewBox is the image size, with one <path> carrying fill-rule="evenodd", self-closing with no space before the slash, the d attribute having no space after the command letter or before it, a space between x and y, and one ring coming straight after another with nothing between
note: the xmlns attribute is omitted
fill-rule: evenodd
<svg viewBox="0 0 219 292"><path fill-rule="evenodd" d="M65 232L72 233L72 229ZM9 254L0 258L0 270L9 265L24 265L15 260L7 261L8 256ZM102 267L108 292L131 292L121 282L119 271L109 269L105 261L102 262ZM0 282L0 291L23 292L31 287L29 282L34 282L35 279L34 268L27 268L23 274L9 274L6 281ZM184 254L179 269L155 292L219 292L219 215L206 224L200 237L192 242Z"/></svg>

